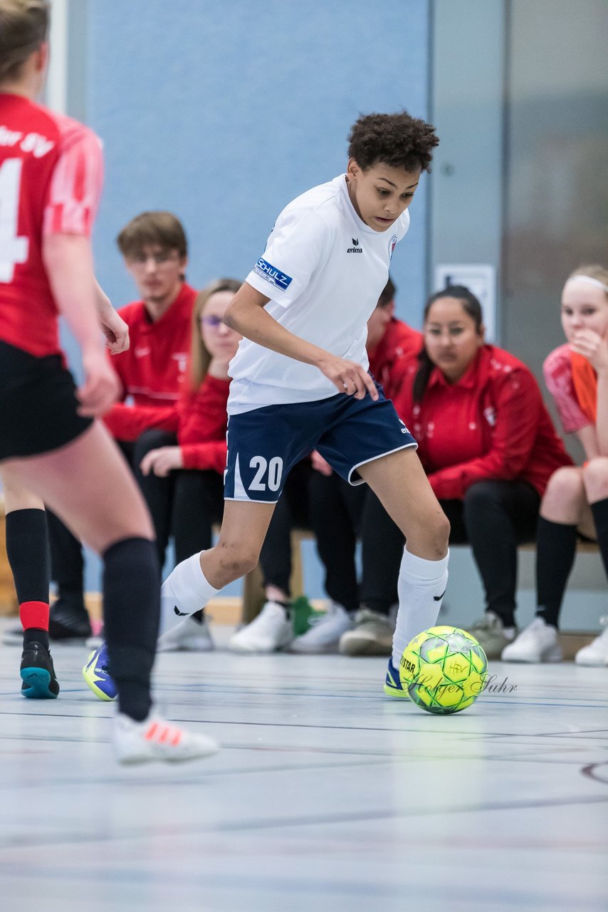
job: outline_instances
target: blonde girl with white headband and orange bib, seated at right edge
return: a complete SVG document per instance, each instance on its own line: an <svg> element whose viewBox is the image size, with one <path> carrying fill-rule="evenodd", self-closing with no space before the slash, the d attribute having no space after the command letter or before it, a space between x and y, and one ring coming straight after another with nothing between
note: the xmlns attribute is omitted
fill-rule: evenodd
<svg viewBox="0 0 608 912"><path fill-rule="evenodd" d="M568 341L546 359L544 375L563 430L576 434L586 461L551 475L536 542L536 617L505 648L504 661L562 658L558 619L577 534L597 541L608 574L608 269L580 266L569 276L562 291L562 327ZM579 649L575 661L608 664L608 625Z"/></svg>

